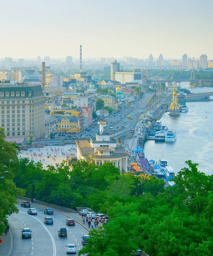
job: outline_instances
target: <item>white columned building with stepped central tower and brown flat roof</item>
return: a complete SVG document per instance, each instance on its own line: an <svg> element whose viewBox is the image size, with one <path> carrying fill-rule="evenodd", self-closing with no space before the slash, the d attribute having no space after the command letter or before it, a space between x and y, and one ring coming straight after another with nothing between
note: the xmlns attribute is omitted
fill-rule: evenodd
<svg viewBox="0 0 213 256"><path fill-rule="evenodd" d="M98 124L100 131L96 133L96 138L76 140L77 159L92 158L97 166L112 162L121 172L127 172L127 152L119 143L110 138L109 132L106 131L107 122L100 121Z"/></svg>

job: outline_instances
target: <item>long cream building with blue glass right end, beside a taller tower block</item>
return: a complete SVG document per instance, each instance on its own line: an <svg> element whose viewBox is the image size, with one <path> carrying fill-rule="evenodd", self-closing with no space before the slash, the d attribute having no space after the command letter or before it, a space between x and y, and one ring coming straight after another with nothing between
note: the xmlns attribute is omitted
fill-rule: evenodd
<svg viewBox="0 0 213 256"><path fill-rule="evenodd" d="M121 84L132 82L142 84L142 73L141 70L138 69L134 72L116 72L115 80L121 82Z"/></svg>

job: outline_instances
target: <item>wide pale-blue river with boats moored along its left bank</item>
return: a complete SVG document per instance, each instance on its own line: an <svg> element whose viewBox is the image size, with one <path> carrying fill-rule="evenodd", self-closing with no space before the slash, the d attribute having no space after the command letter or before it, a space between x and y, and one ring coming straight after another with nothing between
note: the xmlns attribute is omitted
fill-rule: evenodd
<svg viewBox="0 0 213 256"><path fill-rule="evenodd" d="M181 88L188 88L193 93L213 91L213 87L190 88L189 83L181 83ZM145 143L144 153L148 160L158 161L160 157L167 159L177 173L187 166L185 161L199 163L198 169L206 175L213 174L213 101L187 102L189 111L180 116L169 116L164 113L162 124L175 129L177 140L164 143L150 140ZM207 117L207 118L206 118Z"/></svg>

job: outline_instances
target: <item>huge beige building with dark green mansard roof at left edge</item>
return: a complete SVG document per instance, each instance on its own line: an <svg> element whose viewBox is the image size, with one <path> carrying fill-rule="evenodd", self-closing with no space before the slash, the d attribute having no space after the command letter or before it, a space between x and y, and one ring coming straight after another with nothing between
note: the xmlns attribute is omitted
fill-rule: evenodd
<svg viewBox="0 0 213 256"><path fill-rule="evenodd" d="M6 137L27 140L44 135L44 96L41 86L0 81L0 127Z"/></svg>

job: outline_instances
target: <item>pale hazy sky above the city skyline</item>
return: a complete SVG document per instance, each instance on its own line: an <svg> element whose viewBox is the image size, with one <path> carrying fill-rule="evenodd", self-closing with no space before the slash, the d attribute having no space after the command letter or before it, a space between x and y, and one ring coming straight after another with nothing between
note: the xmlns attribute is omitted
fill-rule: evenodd
<svg viewBox="0 0 213 256"><path fill-rule="evenodd" d="M0 57L213 59L213 0L10 0Z"/></svg>

